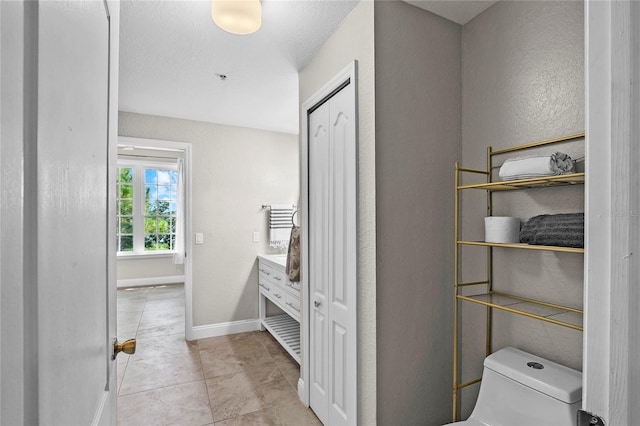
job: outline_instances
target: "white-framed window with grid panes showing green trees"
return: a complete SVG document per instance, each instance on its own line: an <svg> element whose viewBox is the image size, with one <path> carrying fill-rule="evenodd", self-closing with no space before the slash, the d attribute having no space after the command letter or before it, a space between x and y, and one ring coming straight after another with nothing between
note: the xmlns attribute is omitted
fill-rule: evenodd
<svg viewBox="0 0 640 426"><path fill-rule="evenodd" d="M173 252L178 208L176 165L140 161L119 161L118 165L118 253Z"/></svg>

